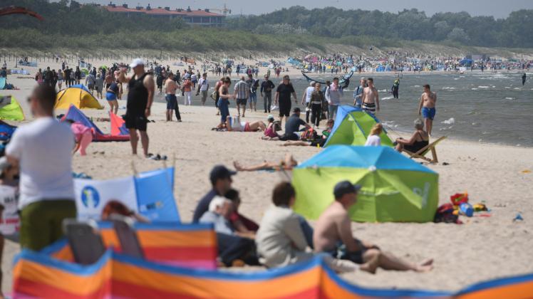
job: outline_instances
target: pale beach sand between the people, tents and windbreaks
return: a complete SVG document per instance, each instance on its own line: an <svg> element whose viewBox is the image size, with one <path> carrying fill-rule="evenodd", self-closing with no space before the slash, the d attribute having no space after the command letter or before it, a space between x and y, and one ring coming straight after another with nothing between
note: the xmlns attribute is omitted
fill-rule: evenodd
<svg viewBox="0 0 533 299"><path fill-rule="evenodd" d="M57 66L54 65L56 68ZM33 71L33 70L32 70ZM296 75L296 74L294 74ZM21 90L1 90L0 95L14 95L24 106L26 116L31 113L26 98L35 85L31 79L9 76ZM264 160L277 161L291 153L299 161L313 156L320 149L314 147L280 147L281 142L259 140L260 132L214 132L219 117L215 116L212 101L209 107L191 107L182 104L183 122L165 122L165 105L155 103L152 120L148 125L150 152L175 157L175 198L184 222L192 218L192 210L200 197L209 191L209 170L215 164L257 164ZM107 105L105 101L100 103ZM262 102L260 102L262 103ZM120 101L125 106L125 101ZM106 106L107 108L107 106ZM387 109L386 103L382 109ZM61 113L64 111L58 111ZM106 117L106 110L84 110L92 117ZM119 110L119 114L124 110ZM234 107L230 108L233 114ZM247 112L245 120L265 120L262 112ZM108 124L96 122L108 132ZM436 136L438 137L438 136ZM93 154L93 152L103 152ZM129 142L93 143L88 156L73 158L73 170L86 172L94 179L110 179L163 167L157 162L132 157ZM489 218L463 218L465 224L357 224L353 234L381 246L385 251L418 262L435 258L435 269L430 273L378 270L368 273L344 274L351 283L379 288L424 288L431 290L459 290L482 280L533 272L533 150L524 147L506 147L448 138L438 146L439 164L428 165L440 174L440 204L449 201L456 192L467 191L472 203L484 201L492 210ZM448 165L443 165L447 162ZM172 161L167 162L167 166ZM234 177L234 187L241 192L242 214L260 221L270 204L274 184L285 179L279 173L248 172ZM514 222L521 213L524 221ZM2 270L2 290L11 290L11 266L19 245L6 241Z"/></svg>

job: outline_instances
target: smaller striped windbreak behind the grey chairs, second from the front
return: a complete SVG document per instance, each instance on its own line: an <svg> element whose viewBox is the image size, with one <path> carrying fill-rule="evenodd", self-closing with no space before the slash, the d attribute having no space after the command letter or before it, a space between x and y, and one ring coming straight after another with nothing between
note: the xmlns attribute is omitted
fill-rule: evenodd
<svg viewBox="0 0 533 299"><path fill-rule="evenodd" d="M99 222L98 228L105 246L120 252L113 224ZM135 224L135 231L148 261L192 268L217 267L217 236L211 224ZM66 239L44 248L41 253L60 261L74 260Z"/></svg>

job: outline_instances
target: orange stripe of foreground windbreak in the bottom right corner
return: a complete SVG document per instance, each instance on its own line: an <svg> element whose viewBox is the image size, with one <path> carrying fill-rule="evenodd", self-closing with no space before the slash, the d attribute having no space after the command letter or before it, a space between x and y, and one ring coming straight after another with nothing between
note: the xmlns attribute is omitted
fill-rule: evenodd
<svg viewBox="0 0 533 299"><path fill-rule="evenodd" d="M485 290L476 290L472 293L457 296L460 299L486 299L486 298L513 298L526 299L533 298L533 281L524 283L513 283L502 285L497 288L488 288Z"/></svg>

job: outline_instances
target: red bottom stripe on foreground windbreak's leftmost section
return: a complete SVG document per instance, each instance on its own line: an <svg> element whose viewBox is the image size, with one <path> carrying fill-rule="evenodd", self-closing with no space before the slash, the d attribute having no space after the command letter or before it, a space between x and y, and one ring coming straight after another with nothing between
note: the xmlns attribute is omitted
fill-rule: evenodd
<svg viewBox="0 0 533 299"><path fill-rule="evenodd" d="M111 280L108 280L101 288L87 295L70 293L60 288L44 283L18 278L13 283L13 292L17 296L33 296L36 298L105 298L111 295Z"/></svg>

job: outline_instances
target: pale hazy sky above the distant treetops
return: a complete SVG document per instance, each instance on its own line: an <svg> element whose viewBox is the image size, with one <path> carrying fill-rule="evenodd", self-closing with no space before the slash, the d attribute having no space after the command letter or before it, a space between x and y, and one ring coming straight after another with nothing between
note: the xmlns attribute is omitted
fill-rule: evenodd
<svg viewBox="0 0 533 299"><path fill-rule="evenodd" d="M82 3L109 3L109 0L78 1ZM533 9L533 0L115 0L113 3L120 5L126 3L130 7L138 4L141 6L150 4L152 7L170 6L172 9L177 8L177 6L182 8L191 6L192 9L215 9L226 3L227 7L232 9L233 15L240 14L241 11L242 14L263 14L295 5L306 6L308 9L334 6L339 9L378 9L390 12L416 8L425 11L428 16L440 11L467 11L472 16L495 16L496 18L507 17L511 11L519 9Z"/></svg>

